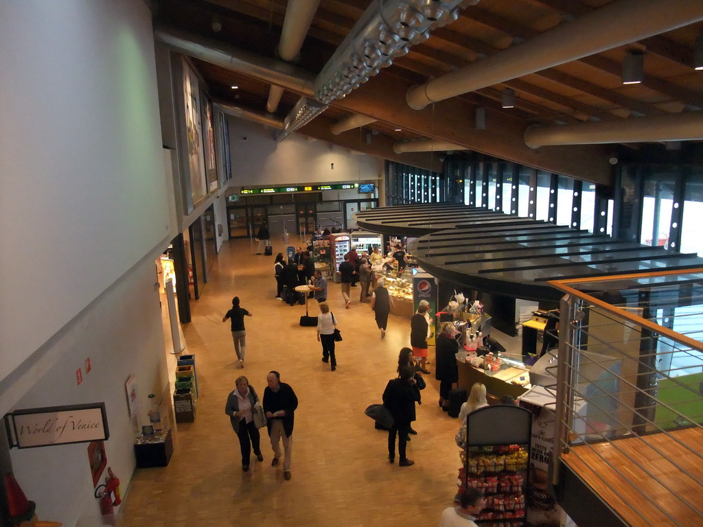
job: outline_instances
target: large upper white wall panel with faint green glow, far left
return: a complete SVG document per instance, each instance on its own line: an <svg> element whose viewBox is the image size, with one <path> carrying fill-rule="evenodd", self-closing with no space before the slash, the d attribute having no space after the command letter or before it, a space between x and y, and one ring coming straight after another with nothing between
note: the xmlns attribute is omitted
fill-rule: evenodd
<svg viewBox="0 0 703 527"><path fill-rule="evenodd" d="M176 233L143 1L1 12L0 381Z"/></svg>

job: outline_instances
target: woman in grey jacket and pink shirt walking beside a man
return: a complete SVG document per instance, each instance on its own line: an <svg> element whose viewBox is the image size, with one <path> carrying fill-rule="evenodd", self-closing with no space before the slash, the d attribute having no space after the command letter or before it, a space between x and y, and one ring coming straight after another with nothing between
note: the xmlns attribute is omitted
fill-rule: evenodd
<svg viewBox="0 0 703 527"><path fill-rule="evenodd" d="M266 421L259 396L257 396L254 386L249 385L249 380L241 375L237 377L235 385L237 387L227 397L224 412L229 416L232 429L236 431L239 438L239 446L242 451L242 470L246 472L249 470L252 447L257 460L264 461L259 447L259 428L264 427Z"/></svg>

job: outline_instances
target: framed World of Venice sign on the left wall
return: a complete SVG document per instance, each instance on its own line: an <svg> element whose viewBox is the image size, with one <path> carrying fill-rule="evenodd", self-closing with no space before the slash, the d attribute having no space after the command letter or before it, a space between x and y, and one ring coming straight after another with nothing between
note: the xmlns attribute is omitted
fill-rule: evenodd
<svg viewBox="0 0 703 527"><path fill-rule="evenodd" d="M105 403L15 410L5 415L10 446L34 448L105 441L110 437Z"/></svg>

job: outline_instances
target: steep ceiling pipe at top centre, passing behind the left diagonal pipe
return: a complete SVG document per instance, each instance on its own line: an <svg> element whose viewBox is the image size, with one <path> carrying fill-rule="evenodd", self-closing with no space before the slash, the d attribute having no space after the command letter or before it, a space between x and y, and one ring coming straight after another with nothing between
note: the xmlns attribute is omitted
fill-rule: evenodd
<svg viewBox="0 0 703 527"><path fill-rule="evenodd" d="M292 62L298 56L319 5L320 0L295 0L288 2L288 7L285 10L285 20L283 20L283 30L278 43L278 56L286 62ZM271 89L269 89L269 100L266 103L266 110L271 113L275 112L278 109L278 103L280 103L282 95L283 88L272 84Z"/></svg>

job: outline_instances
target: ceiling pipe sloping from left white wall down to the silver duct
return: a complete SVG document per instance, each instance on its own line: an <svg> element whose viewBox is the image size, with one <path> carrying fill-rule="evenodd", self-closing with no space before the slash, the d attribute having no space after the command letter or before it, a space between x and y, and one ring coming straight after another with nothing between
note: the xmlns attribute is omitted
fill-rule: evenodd
<svg viewBox="0 0 703 527"><path fill-rule="evenodd" d="M243 73L255 79L282 86L283 89L312 96L315 75L282 60L261 57L228 46L222 42L174 30L161 25L154 28L154 37L183 55L205 60L227 70Z"/></svg>

